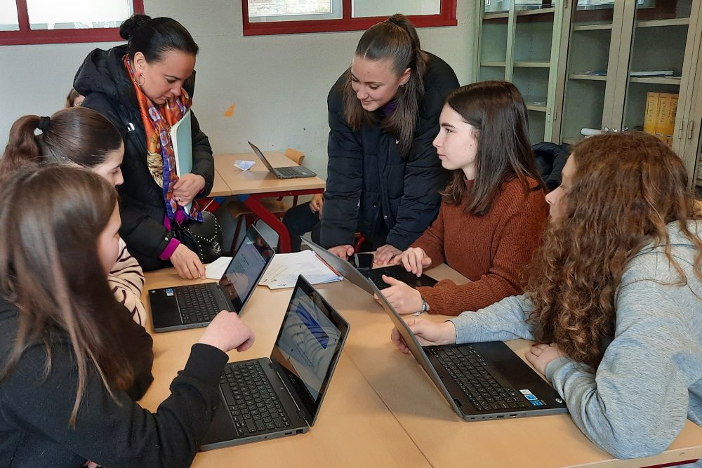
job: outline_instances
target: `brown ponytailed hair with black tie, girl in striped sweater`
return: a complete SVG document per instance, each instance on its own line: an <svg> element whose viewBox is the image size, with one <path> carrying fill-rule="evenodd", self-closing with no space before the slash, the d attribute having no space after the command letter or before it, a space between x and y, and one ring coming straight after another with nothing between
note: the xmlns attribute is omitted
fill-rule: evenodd
<svg viewBox="0 0 702 468"><path fill-rule="evenodd" d="M34 135L39 129L40 135ZM76 163L93 168L121 148L112 122L87 107L62 109L51 117L25 115L13 123L0 172L32 162Z"/></svg>

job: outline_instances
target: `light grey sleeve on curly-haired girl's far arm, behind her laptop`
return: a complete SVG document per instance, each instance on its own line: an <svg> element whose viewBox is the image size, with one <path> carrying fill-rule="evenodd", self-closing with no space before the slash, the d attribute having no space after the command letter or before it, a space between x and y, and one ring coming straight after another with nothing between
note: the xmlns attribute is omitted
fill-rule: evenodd
<svg viewBox="0 0 702 468"><path fill-rule="evenodd" d="M489 307L449 319L456 327L456 343L534 340L534 324L529 314L534 309L525 295L505 297Z"/></svg>

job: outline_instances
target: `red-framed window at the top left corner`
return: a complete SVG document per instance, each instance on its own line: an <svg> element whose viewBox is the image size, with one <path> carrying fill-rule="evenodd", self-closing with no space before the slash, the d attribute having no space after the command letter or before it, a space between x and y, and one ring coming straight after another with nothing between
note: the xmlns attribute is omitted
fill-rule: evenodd
<svg viewBox="0 0 702 468"><path fill-rule="evenodd" d="M0 45L121 41L143 0L0 0Z"/></svg>

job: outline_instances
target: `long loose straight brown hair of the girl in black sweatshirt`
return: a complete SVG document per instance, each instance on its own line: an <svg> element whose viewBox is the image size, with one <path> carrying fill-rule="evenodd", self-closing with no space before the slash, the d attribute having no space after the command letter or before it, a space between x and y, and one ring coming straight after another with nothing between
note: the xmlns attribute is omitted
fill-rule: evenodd
<svg viewBox="0 0 702 468"><path fill-rule="evenodd" d="M0 369L8 378L31 346L69 347L78 369L69 420L75 427L88 375L115 391L133 384L119 329L124 309L114 299L98 255L98 237L117 206L110 182L84 168L27 163L2 173L0 196L0 297L18 307L18 330ZM89 410L89 408L88 408Z"/></svg>

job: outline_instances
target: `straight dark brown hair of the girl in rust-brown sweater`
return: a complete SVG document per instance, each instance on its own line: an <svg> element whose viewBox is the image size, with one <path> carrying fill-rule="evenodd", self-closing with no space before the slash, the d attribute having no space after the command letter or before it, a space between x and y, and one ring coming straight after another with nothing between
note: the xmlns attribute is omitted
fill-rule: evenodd
<svg viewBox="0 0 702 468"><path fill-rule="evenodd" d="M522 182L525 195L531 190L545 190L529 145L527 106L512 83L481 81L461 86L446 97L446 105L477 132L475 182L466 213L487 213L501 185L515 178ZM442 199L460 204L465 190L465 175L457 169Z"/></svg>

